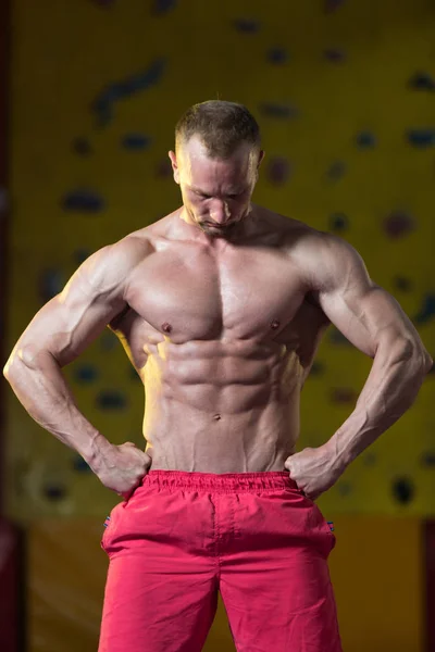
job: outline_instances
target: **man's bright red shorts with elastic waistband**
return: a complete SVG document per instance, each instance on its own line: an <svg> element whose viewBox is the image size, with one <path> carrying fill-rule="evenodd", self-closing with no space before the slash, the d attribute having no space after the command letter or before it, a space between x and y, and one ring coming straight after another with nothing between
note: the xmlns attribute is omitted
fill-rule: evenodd
<svg viewBox="0 0 435 652"><path fill-rule="evenodd" d="M107 519L99 652L200 652L219 591L238 652L341 652L334 544L287 471L150 471Z"/></svg>

